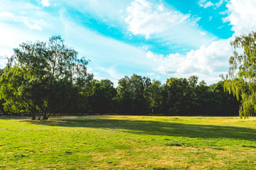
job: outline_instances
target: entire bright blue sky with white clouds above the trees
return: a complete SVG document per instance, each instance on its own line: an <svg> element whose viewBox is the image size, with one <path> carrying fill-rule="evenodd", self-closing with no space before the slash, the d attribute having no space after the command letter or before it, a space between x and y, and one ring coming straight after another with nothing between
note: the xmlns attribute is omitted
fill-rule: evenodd
<svg viewBox="0 0 256 170"><path fill-rule="evenodd" d="M60 35L95 79L163 84L228 73L230 41L256 29L255 0L0 0L0 68L22 42Z"/></svg>

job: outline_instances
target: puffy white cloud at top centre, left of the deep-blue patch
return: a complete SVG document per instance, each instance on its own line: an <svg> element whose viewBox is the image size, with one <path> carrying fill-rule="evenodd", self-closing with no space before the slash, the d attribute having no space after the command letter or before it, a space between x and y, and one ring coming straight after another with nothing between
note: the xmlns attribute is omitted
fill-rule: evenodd
<svg viewBox="0 0 256 170"><path fill-rule="evenodd" d="M145 35L146 38L183 23L190 17L188 14L167 10L162 4L154 5L146 0L133 1L127 12L125 21L129 25L129 31L134 35Z"/></svg>

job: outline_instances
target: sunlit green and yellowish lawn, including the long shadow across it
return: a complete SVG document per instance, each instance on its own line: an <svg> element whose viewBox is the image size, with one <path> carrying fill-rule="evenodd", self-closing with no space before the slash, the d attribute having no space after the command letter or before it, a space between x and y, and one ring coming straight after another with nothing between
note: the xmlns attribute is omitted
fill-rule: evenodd
<svg viewBox="0 0 256 170"><path fill-rule="evenodd" d="M1 116L0 169L256 169L256 118Z"/></svg>

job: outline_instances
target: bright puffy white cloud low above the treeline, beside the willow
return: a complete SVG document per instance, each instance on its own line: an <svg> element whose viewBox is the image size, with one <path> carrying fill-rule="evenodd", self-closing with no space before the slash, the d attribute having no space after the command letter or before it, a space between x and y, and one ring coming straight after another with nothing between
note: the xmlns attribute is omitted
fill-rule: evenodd
<svg viewBox="0 0 256 170"><path fill-rule="evenodd" d="M230 40L219 40L210 45L191 50L186 55L170 54L154 55L148 52L146 56L158 67L154 71L175 77L197 75L208 83L220 80L219 75L228 72L228 60L232 55Z"/></svg>

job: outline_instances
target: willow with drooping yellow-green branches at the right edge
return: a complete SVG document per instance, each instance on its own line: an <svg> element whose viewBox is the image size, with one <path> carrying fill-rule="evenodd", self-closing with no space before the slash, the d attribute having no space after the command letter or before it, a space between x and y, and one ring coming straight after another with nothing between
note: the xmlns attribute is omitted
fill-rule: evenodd
<svg viewBox="0 0 256 170"><path fill-rule="evenodd" d="M240 118L256 113L256 32L240 35L230 42L233 56L225 77L225 90L241 102Z"/></svg>

